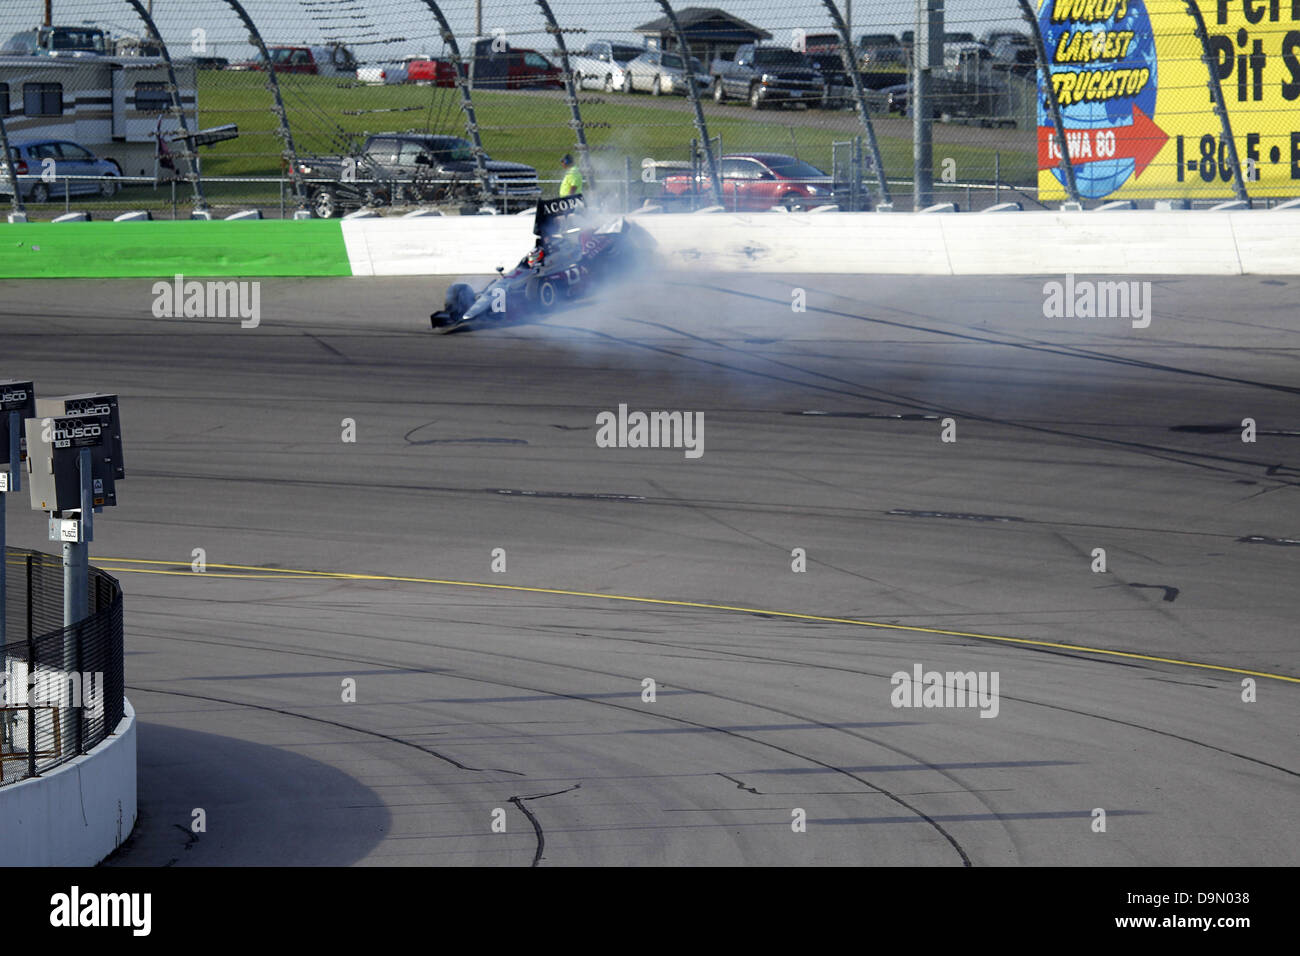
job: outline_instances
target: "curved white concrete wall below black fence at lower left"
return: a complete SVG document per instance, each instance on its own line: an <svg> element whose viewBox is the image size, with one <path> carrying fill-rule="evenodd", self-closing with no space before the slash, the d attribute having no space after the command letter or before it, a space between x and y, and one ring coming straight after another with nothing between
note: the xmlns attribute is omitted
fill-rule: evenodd
<svg viewBox="0 0 1300 956"><path fill-rule="evenodd" d="M135 826L135 710L48 774L0 787L0 866L94 866Z"/></svg>

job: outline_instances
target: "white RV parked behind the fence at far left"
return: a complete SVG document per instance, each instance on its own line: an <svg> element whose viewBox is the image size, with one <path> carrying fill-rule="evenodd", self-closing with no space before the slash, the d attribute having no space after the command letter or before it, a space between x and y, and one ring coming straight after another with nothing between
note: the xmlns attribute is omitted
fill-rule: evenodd
<svg viewBox="0 0 1300 956"><path fill-rule="evenodd" d="M174 61L181 105L198 129L192 61ZM169 112L166 64L151 56L0 56L0 109L10 143L72 139L124 176L153 176L155 131Z"/></svg>

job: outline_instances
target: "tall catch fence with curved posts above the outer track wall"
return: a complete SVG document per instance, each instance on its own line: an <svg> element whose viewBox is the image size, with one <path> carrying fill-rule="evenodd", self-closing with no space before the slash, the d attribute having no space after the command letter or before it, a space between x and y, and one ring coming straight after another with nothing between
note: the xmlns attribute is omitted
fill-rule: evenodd
<svg viewBox="0 0 1300 956"><path fill-rule="evenodd" d="M1050 207L1053 96L1084 203L1300 187L1294 4L53 0L42 30L43 7L0 10L36 219L512 212L566 153L624 208Z"/></svg>

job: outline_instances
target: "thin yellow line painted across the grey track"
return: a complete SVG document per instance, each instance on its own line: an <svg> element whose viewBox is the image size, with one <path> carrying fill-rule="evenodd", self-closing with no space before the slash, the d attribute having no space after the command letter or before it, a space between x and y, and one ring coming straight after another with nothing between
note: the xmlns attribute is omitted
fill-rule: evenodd
<svg viewBox="0 0 1300 956"><path fill-rule="evenodd" d="M169 564L172 567L185 566L183 561L150 561L146 558L100 558L96 567L104 571L118 574L160 574L177 575L182 578L239 578L239 579L303 579L322 578L341 581L390 581L395 584L437 584L450 588L480 588L490 591L515 591L532 594L559 594L562 597L593 597L601 601L628 601L632 604L660 605L666 607L698 607L706 611L734 611L738 614L762 614L770 618L789 618L792 620L815 620L826 624L852 624L853 627L874 627L884 631L910 631L913 633L931 633L942 637L968 637L979 641L997 641L1001 644L1019 644L1031 648L1050 648L1053 650L1074 650L1084 654L1098 654L1101 657L1122 657L1130 661L1150 661L1153 663L1170 663L1176 667L1196 667L1199 670L1219 671L1223 674L1245 674L1252 678L1269 678L1271 680L1284 680L1291 684L1300 684L1300 678L1286 674L1270 674L1269 671L1252 671L1244 667L1226 667L1218 663L1202 663L1200 661L1180 661L1175 657L1154 657L1152 654L1135 654L1128 650L1108 650L1106 648L1089 648L1083 644L1061 644L1057 641L1036 641L1030 637L1008 637L996 633L979 633L975 631L948 631L941 627L919 627L916 624L887 624L880 620L862 620L858 618L828 618L820 614L802 614L800 611L774 611L764 607L738 607L725 604L705 604L701 601L672 601L663 597L637 597L634 594L601 594L593 591L567 591L563 588L529 588L523 584L488 584L485 581L454 581L441 578L404 578L399 575L363 575L346 571L304 571L298 568L256 567L255 564L207 564L217 568L218 574L211 571L162 571L159 568L143 567L116 567L133 564ZM252 571L255 574L220 574L220 571Z"/></svg>

